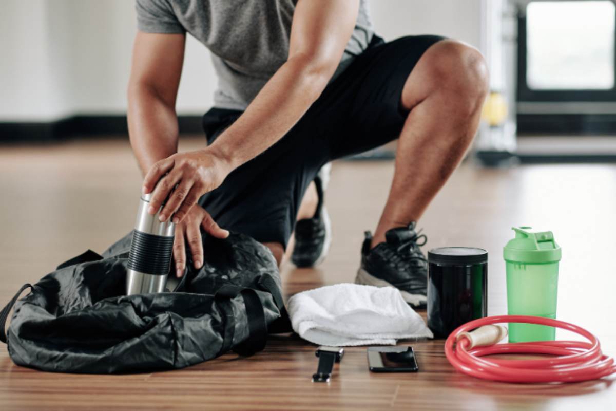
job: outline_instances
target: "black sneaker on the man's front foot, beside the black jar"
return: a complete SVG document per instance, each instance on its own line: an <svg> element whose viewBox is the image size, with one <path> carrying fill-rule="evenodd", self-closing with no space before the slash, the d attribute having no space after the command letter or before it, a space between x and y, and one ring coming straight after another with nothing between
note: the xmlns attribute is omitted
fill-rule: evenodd
<svg viewBox="0 0 616 411"><path fill-rule="evenodd" d="M362 264L355 283L376 287L395 287L402 298L415 308L426 307L428 261L419 246L426 243L426 235L415 231L415 222L385 233L386 242L370 250L372 234L365 232L362 245Z"/></svg>

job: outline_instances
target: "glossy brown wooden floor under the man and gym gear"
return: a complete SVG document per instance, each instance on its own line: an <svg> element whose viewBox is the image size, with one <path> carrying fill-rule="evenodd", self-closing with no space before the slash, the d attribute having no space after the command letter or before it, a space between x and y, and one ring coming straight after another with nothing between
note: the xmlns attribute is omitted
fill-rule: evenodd
<svg viewBox="0 0 616 411"><path fill-rule="evenodd" d="M199 144L188 140L182 148ZM389 162L334 164L326 197L333 221L330 254L317 269L285 264L286 296L352 282L362 232L374 229L392 173ZM59 262L86 248L102 251L128 232L140 181L124 140L1 147L0 303ZM511 226L526 224L553 230L562 246L559 319L588 328L604 352L616 355L616 166L487 170L465 164L419 226L428 235L426 250L444 245L488 250L493 315L506 312L502 247ZM329 385L310 383L315 347L293 335L272 337L265 351L249 358L228 354L184 370L120 376L17 367L2 346L0 410L616 409L616 375L570 385L492 383L454 372L443 341L410 344L420 372L370 373L365 348L349 348Z"/></svg>

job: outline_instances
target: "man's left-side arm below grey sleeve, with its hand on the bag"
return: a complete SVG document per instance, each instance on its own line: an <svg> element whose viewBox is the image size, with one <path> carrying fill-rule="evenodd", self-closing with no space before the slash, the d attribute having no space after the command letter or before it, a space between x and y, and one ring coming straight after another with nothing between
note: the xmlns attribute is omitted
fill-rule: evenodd
<svg viewBox="0 0 616 411"><path fill-rule="evenodd" d="M132 150L144 174L156 161L177 152L176 97L184 44L183 34L139 32L135 38L128 86L128 128ZM178 277L186 265L187 243L195 267L203 264L200 227L214 237L229 235L203 208L194 207L175 230L173 258Z"/></svg>

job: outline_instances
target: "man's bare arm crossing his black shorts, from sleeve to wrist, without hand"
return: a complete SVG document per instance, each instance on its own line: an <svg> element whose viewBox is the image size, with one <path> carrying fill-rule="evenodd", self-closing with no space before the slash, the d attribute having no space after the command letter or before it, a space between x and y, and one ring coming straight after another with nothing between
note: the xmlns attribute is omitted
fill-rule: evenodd
<svg viewBox="0 0 616 411"><path fill-rule="evenodd" d="M358 0L298 1L288 59L212 145L232 168L277 142L317 100L338 67L358 10Z"/></svg>

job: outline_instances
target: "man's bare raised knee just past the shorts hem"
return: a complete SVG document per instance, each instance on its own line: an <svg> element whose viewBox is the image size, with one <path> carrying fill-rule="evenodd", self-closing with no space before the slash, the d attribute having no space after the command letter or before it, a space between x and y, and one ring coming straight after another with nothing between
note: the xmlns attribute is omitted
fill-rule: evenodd
<svg viewBox="0 0 616 411"><path fill-rule="evenodd" d="M489 87L484 56L474 47L444 40L430 47L424 57L419 64L428 73L428 87L432 92L448 92L458 103L461 115L476 113Z"/></svg>

